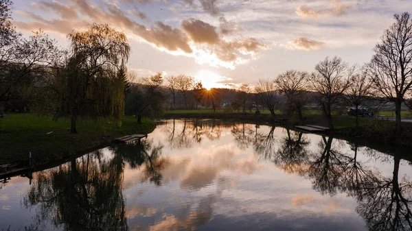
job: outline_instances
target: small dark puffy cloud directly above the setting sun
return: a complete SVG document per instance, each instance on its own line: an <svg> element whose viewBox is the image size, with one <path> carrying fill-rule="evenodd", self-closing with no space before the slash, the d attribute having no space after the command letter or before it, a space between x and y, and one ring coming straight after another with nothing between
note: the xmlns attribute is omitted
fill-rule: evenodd
<svg viewBox="0 0 412 231"><path fill-rule="evenodd" d="M220 40L216 27L200 20L184 20L182 21L182 28L197 43L216 45Z"/></svg>

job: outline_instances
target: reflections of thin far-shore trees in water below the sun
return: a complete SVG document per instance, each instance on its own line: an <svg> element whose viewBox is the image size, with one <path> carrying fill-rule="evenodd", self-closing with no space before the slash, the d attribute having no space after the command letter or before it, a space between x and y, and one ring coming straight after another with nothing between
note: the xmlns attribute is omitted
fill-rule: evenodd
<svg viewBox="0 0 412 231"><path fill-rule="evenodd" d="M195 143L201 143L205 137L209 141L220 138L223 125L222 121L217 120L173 120L165 125L164 131L168 133L170 147L190 148Z"/></svg>

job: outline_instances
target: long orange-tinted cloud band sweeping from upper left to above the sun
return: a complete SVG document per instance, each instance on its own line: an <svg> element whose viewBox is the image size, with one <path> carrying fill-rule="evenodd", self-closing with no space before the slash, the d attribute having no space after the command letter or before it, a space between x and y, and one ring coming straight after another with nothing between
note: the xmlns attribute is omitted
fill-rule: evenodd
<svg viewBox="0 0 412 231"><path fill-rule="evenodd" d="M186 2L192 3L192 1ZM141 38L162 51L174 55L190 56L201 64L224 66L230 69L255 58L258 51L266 49L266 46L255 38L234 38L232 36L233 41L226 40L225 35L233 35L233 32L240 30L238 25L226 21L218 10L216 0L201 0L201 4L209 14L220 15L220 34L215 26L198 19L181 21L181 28L172 27L160 21L147 27L133 20L133 16L137 16L146 23L150 22L148 16L136 8L127 11L122 10L122 5L119 3L100 2L99 5L93 5L93 2L89 0L69 0L67 5L57 1L38 1L33 5L44 12L52 12L55 16L46 19L32 12L21 11L21 14L25 15L25 21L14 23L19 29L26 31L41 28L61 34L68 34L73 29L84 29L91 21L110 23L113 27L128 35ZM128 14L124 14L125 11Z"/></svg>

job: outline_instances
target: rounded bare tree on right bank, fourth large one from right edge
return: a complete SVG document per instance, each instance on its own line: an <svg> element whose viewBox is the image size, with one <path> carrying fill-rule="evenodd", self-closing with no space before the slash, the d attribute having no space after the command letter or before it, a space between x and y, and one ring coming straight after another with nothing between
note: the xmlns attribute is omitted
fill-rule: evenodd
<svg viewBox="0 0 412 231"><path fill-rule="evenodd" d="M286 95L289 106L288 111L297 110L300 121L304 120L302 108L306 104L305 90L307 88L308 73L304 71L290 70L277 75L275 84Z"/></svg>

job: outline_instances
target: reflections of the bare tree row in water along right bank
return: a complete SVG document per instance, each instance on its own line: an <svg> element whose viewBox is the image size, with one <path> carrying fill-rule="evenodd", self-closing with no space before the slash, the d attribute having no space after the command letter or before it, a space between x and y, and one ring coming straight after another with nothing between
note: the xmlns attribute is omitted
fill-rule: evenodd
<svg viewBox="0 0 412 231"><path fill-rule="evenodd" d="M398 179L399 156L392 157L393 175L387 178L358 160L356 143L344 154L332 137L323 136L318 149L310 151L303 134L286 130L276 149L273 129L267 134L255 133L254 147L259 156L288 173L309 178L322 194L347 193L354 197L358 201L356 212L369 230L412 230L412 182ZM375 155L372 149L364 150L369 157ZM380 161L392 162L390 156L376 155Z"/></svg>

